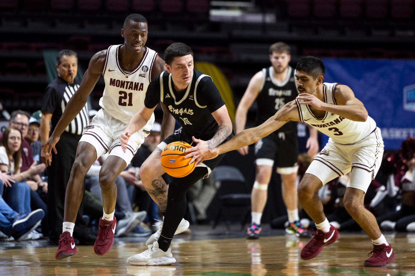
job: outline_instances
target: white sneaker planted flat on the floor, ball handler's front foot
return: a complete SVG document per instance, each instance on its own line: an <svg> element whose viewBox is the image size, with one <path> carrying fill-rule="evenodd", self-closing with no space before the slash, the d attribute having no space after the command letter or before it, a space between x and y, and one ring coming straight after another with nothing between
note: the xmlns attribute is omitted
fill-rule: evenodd
<svg viewBox="0 0 415 276"><path fill-rule="evenodd" d="M128 263L134 266L164 266L176 262L171 254L171 247L168 247L166 252L159 248L158 242L154 242L148 247L149 249L146 251L129 257Z"/></svg>

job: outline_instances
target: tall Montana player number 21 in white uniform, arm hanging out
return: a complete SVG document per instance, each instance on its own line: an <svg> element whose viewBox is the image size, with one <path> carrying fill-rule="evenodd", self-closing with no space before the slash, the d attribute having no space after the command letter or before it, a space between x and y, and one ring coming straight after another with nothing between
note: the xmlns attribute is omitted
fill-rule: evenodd
<svg viewBox="0 0 415 276"><path fill-rule="evenodd" d="M100 99L102 109L94 116L90 125L85 127L66 188L63 233L60 235L59 248L55 254L58 260L77 253L72 233L83 197L83 179L93 162L108 152L109 156L99 174L104 212L103 218L99 221L98 237L94 245L95 254L105 254L114 242L117 226L114 217L117 198L115 178L127 167L149 134L154 114L149 122L134 133L132 139L130 138L125 153L121 149L119 137L129 119L142 108L152 77L164 71L164 61L155 51L144 46L147 34L147 21L142 15L127 16L121 30L124 44L112 45L91 58L79 89L68 102L59 123L45 144L44 152L47 158L51 155L52 149L56 154L55 145L59 141L59 136L85 105L88 95L103 75L105 89ZM163 120L161 136L168 136L173 132L174 119L167 112L164 114L166 121Z"/></svg>

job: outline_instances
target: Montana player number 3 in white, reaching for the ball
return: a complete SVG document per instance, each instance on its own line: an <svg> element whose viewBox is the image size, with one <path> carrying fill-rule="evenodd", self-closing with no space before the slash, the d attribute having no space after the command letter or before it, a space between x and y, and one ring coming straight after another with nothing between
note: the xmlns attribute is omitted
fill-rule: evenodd
<svg viewBox="0 0 415 276"><path fill-rule="evenodd" d="M255 128L242 131L213 150L203 151L197 145L186 150L196 164L221 153L250 145L289 121L303 121L330 137L325 148L315 157L298 186L298 198L314 220L317 232L301 251L301 259L312 259L322 247L335 242L339 233L323 213L317 191L335 177L351 171L344 194L344 206L353 219L372 239L371 257L364 266L385 266L395 259L393 249L379 230L374 215L363 206L370 182L381 165L383 140L375 121L364 105L346 85L323 83L325 68L319 58L306 56L297 64L298 91L294 100L279 109L274 116ZM200 141L194 139L196 143Z"/></svg>

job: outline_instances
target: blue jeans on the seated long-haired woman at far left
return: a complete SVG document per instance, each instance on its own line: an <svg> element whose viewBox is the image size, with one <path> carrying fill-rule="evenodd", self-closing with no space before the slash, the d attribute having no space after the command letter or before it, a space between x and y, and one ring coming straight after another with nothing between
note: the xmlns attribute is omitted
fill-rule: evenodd
<svg viewBox="0 0 415 276"><path fill-rule="evenodd" d="M3 186L3 185L2 185ZM26 182L15 182L5 187L3 199L17 213L30 213L30 188Z"/></svg>

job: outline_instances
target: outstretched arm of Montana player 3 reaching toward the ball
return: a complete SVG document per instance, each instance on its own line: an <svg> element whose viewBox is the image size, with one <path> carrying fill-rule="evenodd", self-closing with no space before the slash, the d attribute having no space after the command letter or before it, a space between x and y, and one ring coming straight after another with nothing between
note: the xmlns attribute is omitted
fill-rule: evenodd
<svg viewBox="0 0 415 276"><path fill-rule="evenodd" d="M278 128L281 128L281 126L283 126L288 121L300 121L295 101L291 101L288 104L284 105L281 109L279 109L276 112L276 114L274 114L274 116L266 120L261 125L254 128L245 129L244 131L238 133L236 136L234 136L226 143L223 143L222 145L219 145L214 149L210 149L208 152L206 152L203 156L200 157L199 163L203 160L213 159L217 155L220 155L222 153L226 153L231 150L236 150L246 145L251 145L259 139L269 135L271 132L276 131ZM188 155L186 155L185 158L192 157L190 163L196 159L194 157L194 148L185 150L185 153L188 153Z"/></svg>

